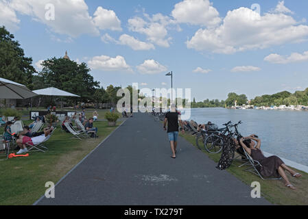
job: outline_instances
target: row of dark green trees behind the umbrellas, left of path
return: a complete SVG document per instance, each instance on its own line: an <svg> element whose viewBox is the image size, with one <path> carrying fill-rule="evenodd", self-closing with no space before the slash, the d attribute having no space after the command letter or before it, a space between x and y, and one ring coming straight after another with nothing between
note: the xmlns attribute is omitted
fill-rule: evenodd
<svg viewBox="0 0 308 219"><path fill-rule="evenodd" d="M94 80L90 74L91 69L84 62L78 64L64 57L51 57L43 61L43 68L39 72L32 66L32 62L32 57L25 57L21 44L14 40L14 35L4 26L0 27L0 77L22 83L30 90L54 87L81 96L80 99L66 98L65 100L71 104L82 101L97 105L115 105L121 99L117 96L117 91L121 87L99 86L100 82ZM128 90L132 93L131 86ZM52 102L53 99L49 101Z"/></svg>

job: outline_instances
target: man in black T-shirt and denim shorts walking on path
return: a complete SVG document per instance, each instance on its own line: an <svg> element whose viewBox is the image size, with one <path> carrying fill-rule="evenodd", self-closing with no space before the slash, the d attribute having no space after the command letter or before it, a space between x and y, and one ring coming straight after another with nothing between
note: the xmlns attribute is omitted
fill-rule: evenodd
<svg viewBox="0 0 308 219"><path fill-rule="evenodd" d="M176 111L176 105L171 105L170 112L167 112L164 121L164 129L167 130L168 138L171 146L172 155L171 158L176 158L176 147L178 146L178 121L180 121L180 126L182 127L182 133L185 133L182 120L180 119L180 114ZM168 123L168 129L166 125Z"/></svg>

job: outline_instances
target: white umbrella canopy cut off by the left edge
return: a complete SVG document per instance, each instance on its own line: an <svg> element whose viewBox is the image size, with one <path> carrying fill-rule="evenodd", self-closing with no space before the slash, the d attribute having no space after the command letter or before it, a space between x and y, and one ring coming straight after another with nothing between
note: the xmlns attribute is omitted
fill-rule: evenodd
<svg viewBox="0 0 308 219"><path fill-rule="evenodd" d="M37 96L26 86L0 77L0 99L27 99Z"/></svg>

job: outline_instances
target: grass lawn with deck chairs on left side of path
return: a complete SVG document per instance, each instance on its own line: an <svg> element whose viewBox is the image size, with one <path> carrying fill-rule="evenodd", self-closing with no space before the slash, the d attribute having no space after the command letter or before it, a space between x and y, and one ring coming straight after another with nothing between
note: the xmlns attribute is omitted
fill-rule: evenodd
<svg viewBox="0 0 308 219"><path fill-rule="evenodd" d="M120 124L117 123L117 127ZM29 153L29 157L0 161L0 205L32 205L45 194L47 181L56 184L117 128L100 121L94 126L99 130L97 140L75 140L58 127L45 144L49 148L46 153L34 152Z"/></svg>

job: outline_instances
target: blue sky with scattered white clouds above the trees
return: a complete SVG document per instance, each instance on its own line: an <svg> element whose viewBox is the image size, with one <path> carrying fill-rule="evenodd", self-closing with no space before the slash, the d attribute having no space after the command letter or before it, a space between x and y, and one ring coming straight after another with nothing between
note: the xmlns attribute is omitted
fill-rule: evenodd
<svg viewBox="0 0 308 219"><path fill-rule="evenodd" d="M44 18L46 3L54 3L54 21ZM0 6L0 25L37 69L40 60L67 50L104 87L169 88L171 70L174 86L191 88L197 101L308 87L305 0L0 0Z"/></svg>

